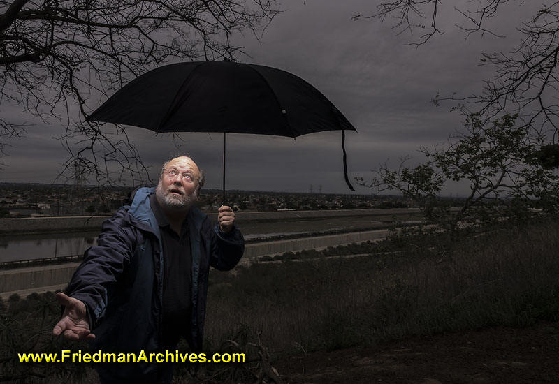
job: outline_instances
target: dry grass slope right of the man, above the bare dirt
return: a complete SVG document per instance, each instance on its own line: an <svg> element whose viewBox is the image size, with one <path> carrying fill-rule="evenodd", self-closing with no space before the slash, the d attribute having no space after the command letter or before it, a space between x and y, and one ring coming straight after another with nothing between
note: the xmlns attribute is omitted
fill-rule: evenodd
<svg viewBox="0 0 559 384"><path fill-rule="evenodd" d="M444 258L421 239L420 251L410 241L409 252L214 275L221 282L208 293L206 345L219 348L252 331L262 332L270 350L298 353L556 321L558 232L556 223L491 232L455 244Z"/></svg>

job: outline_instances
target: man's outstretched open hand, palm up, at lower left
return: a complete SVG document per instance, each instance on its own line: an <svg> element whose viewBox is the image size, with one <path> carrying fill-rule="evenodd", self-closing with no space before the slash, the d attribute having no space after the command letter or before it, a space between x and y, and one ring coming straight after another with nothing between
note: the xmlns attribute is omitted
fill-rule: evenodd
<svg viewBox="0 0 559 384"><path fill-rule="evenodd" d="M83 302L61 292L57 293L57 302L66 308L61 320L52 329L52 334L62 335L67 340L95 339L95 335L89 329L89 319Z"/></svg>

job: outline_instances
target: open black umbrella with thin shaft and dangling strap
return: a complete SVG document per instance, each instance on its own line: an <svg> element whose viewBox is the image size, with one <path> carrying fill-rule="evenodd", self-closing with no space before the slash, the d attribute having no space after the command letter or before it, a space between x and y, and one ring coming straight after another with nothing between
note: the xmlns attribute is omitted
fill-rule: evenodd
<svg viewBox="0 0 559 384"><path fill-rule="evenodd" d="M277 68L231 61L169 64L137 77L89 115L155 132L256 133L296 138L354 126L305 80Z"/></svg>

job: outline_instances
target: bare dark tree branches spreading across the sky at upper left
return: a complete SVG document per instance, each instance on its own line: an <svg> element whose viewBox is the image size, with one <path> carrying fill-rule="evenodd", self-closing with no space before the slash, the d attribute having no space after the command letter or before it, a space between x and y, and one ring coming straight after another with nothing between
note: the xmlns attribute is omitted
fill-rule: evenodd
<svg viewBox="0 0 559 384"><path fill-rule="evenodd" d="M231 34L258 34L277 12L276 0L0 0L3 111L63 124L66 170L99 184L141 181L146 169L126 133L85 121L99 99L169 61L234 59L242 49ZM3 112L0 155L27 126Z"/></svg>

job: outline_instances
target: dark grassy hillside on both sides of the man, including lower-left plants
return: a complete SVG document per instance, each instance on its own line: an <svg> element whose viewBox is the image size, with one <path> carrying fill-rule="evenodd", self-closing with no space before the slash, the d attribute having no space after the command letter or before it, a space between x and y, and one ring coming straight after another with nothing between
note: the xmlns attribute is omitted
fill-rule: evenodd
<svg viewBox="0 0 559 384"><path fill-rule="evenodd" d="M245 351L258 362L206 364L199 374L207 383L231 375L254 382L268 352L273 360L488 325L558 321L558 242L559 224L539 222L453 244L437 234L398 235L265 258L232 273L212 271L205 351ZM0 303L0 381L58 383L71 376L96 383L85 364L15 362L21 352L87 350L50 337L59 315L53 293ZM188 377L184 370L178 376Z"/></svg>

